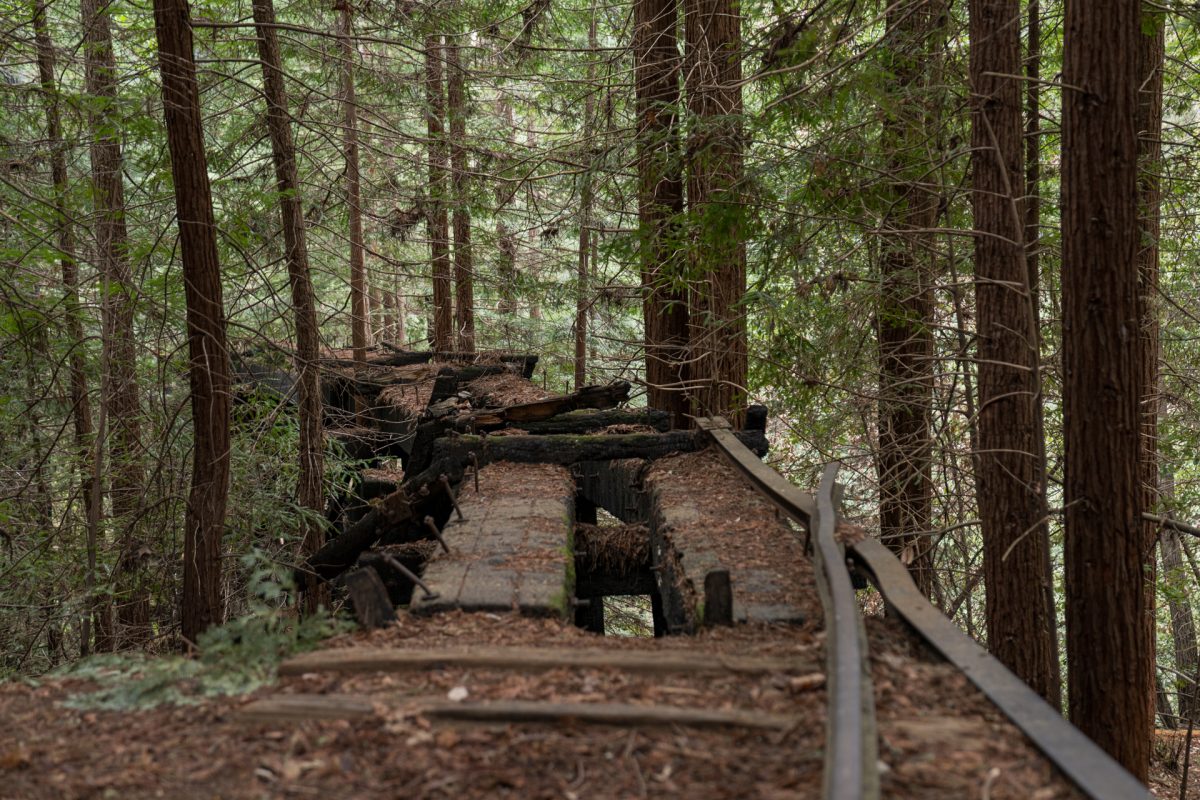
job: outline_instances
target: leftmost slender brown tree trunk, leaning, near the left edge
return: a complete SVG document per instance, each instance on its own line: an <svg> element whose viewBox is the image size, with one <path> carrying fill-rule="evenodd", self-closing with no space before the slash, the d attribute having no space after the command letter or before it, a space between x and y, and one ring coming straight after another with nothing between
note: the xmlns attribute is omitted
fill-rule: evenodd
<svg viewBox="0 0 1200 800"><path fill-rule="evenodd" d="M88 373L83 354L83 312L79 307L79 265L76 263L74 225L67 211L67 150L62 140L62 114L55 79L54 42L46 24L46 0L34 2L34 35L37 41L37 72L46 101L47 142L50 146L50 176L54 182L54 224L58 228L59 258L62 266L64 312L67 338L73 343L68 361L71 374L71 419L74 422L74 447L78 458L79 489L83 497L84 519L94 516L96 495L92 493L91 463L91 398L88 395ZM86 590L95 607L96 529L86 524L88 572ZM91 650L91 610L83 614L79 654Z"/></svg>

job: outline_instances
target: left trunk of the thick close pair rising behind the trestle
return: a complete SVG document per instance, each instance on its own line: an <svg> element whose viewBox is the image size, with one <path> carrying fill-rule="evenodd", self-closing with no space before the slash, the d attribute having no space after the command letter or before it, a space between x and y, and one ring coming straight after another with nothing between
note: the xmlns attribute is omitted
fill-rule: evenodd
<svg viewBox="0 0 1200 800"><path fill-rule="evenodd" d="M678 0L634 4L637 92L637 216L648 404L685 427L688 289L680 236Z"/></svg>

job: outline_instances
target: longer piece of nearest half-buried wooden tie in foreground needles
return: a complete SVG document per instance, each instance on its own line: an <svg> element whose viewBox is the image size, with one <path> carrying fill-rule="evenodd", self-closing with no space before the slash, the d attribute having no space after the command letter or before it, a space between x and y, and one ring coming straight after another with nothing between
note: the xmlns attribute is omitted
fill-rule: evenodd
<svg viewBox="0 0 1200 800"><path fill-rule="evenodd" d="M761 711L682 709L628 703L540 703L497 700L452 703L439 700L421 709L427 717L474 722L551 722L611 726L683 726L688 728L761 728L788 730L799 717Z"/></svg>

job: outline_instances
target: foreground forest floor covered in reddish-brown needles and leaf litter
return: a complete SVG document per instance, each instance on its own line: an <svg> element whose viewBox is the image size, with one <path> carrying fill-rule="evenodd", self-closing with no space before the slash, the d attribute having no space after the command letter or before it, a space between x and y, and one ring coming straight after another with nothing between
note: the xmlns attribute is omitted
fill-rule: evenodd
<svg viewBox="0 0 1200 800"><path fill-rule="evenodd" d="M870 622L883 795L920 800L1076 796L961 676L892 624ZM790 673L646 675L599 669L280 678L234 698L146 711L64 705L89 686L0 686L0 798L767 798L820 794L822 636L743 625L694 637L618 638L554 620L401 613L397 625L328 648L530 645L794 658ZM788 714L787 729L478 724L431 721L420 698L622 702ZM288 694L366 698L354 720L256 721L248 704ZM336 700L335 700L336 702ZM1170 796L1159 793L1159 796Z"/></svg>

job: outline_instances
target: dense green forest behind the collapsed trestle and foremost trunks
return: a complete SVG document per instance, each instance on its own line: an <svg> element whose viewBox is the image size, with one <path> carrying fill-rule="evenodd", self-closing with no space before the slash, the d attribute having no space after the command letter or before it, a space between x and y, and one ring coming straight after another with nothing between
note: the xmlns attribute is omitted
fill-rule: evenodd
<svg viewBox="0 0 1200 800"><path fill-rule="evenodd" d="M968 12L989 5L1015 13L979 38L979 16ZM634 47L635 20L674 22L692 6L732 19L739 35L725 46L734 71L714 80L738 98L715 114L691 102L706 85L692 83L698 67L679 55L692 34L680 26L678 47L670 46L684 91L664 108L678 118L684 144L667 158L695 166L695 152L710 145L707 116L740 162L726 172L734 180L725 201L684 217L666 248L692 253L692 269L703 266L695 253L730 255L731 241L740 248L731 258L744 258L744 290L702 314L744 325L748 374L737 397L770 408L772 462L811 486L824 462L841 459L850 516L902 537L899 549L920 566L923 589L986 640L980 503L990 485L979 437L989 434L978 422L980 383L1000 356L980 351L980 319L995 312L979 307L978 289L991 278L979 261L977 154L991 139L980 139L986 128L973 122L972 107L997 71L973 67L972 54L1009 30L1020 46L1016 70L1001 77L1020 108L1024 168L994 194L1001 215L1021 221L1021 261L1032 276L1022 296L1036 323L1014 336L1033 342L1025 372L1040 378L1045 459L1034 493L1045 513L1024 533L1049 546L1055 646L1046 657L1057 672L1067 662L1057 643L1069 505L1063 4L684 6L280 2L269 28L298 176L286 198L299 199L302 213L319 345L421 349L452 331L443 349L540 354L535 380L554 391L611 378L644 386L647 330L672 307L643 315L647 116L635 90L644 55ZM229 350L288 369L298 303L263 95L262 7L197 1L191 25ZM178 646L196 441L179 179L154 16L130 0L0 0L0 674L11 675L97 649ZM110 67L100 58L97 20L110 32ZM1072 34L1079 47L1104 50L1082 40L1085 28ZM1159 259L1157 287L1141 284L1160 331L1150 435L1157 479L1145 506L1158 517L1147 524L1159 551L1144 558L1157 587L1156 674L1169 722L1198 709L1200 561L1190 536L1200 530L1187 523L1200 521L1200 36L1189 4L1146 4L1134 28L1160 36L1163 47L1160 68L1129 85L1153 94L1151 76L1163 85L1160 134L1138 128L1162 148L1141 168L1142 185L1160 191L1160 205L1144 204L1141 218L1154 217L1160 230L1142 223L1138 235L1142 249L1157 245ZM115 166L97 166L104 143L119 145ZM114 206L104 188L114 185L122 196L115 215L106 212ZM703 188L691 181L686 193L695 199ZM124 228L118 251L109 247L114 221ZM455 297L457 317L439 320L449 307L434 295L450 287L451 257L456 288L470 278L468 294ZM680 266L664 290L685 296L698 279ZM364 341L353 336L356 317ZM916 349L911 331L901 331L898 349L887 331L914 320ZM907 377L893 362L905 357ZM264 595L281 602L264 585L287 579L322 518L302 497L294 407L269 395L240 399L220 545L224 619ZM892 422L881 419L916 404L923 432L898 450ZM336 450L325 455L329 492L354 464ZM904 464L923 476L924 510L912 516L906 500L893 512L910 517L889 519L889 498L911 488L896 482Z"/></svg>

